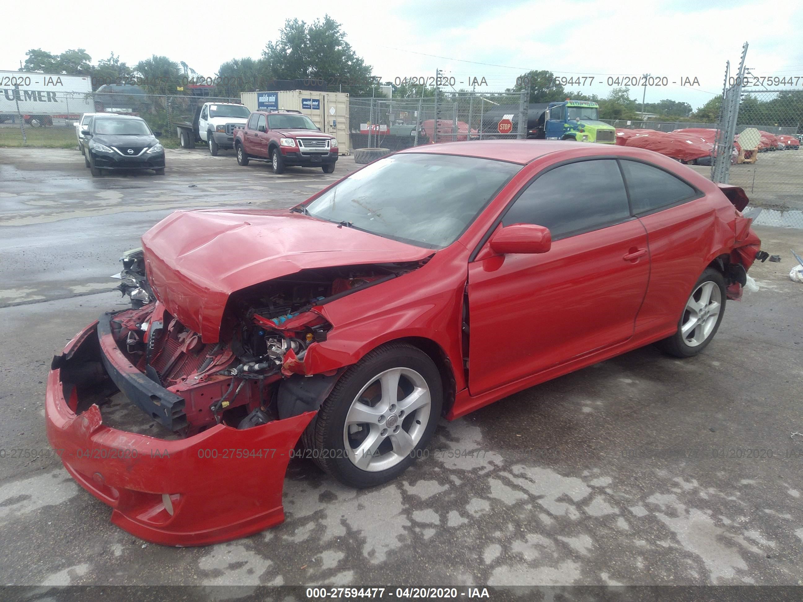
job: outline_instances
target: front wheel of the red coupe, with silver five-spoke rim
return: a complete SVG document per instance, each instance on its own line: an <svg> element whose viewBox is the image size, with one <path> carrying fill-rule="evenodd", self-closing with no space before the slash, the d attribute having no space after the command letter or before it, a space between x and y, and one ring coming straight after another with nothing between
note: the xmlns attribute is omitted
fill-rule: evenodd
<svg viewBox="0 0 803 602"><path fill-rule="evenodd" d="M318 465L345 485L381 485L421 455L442 405L430 356L410 344L386 344L340 376L305 442Z"/></svg>

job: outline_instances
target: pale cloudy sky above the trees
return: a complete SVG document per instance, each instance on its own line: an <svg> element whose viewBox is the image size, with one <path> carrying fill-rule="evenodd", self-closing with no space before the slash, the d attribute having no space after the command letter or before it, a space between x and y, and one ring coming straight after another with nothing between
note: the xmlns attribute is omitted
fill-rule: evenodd
<svg viewBox="0 0 803 602"><path fill-rule="evenodd" d="M721 92L725 61L738 64L748 41L754 75L801 76L803 89L800 0L10 0L2 12L0 70L16 70L30 48L84 47L93 62L112 51L129 65L167 55L212 75L228 59L258 58L286 18L311 22L328 13L383 80L441 68L457 82L484 77L493 92L524 71L548 69L593 77L593 85L569 89L606 96L609 77L650 73L670 84L648 88L647 102L671 98L697 108ZM699 85L681 86L685 78ZM641 100L643 88L631 92Z"/></svg>

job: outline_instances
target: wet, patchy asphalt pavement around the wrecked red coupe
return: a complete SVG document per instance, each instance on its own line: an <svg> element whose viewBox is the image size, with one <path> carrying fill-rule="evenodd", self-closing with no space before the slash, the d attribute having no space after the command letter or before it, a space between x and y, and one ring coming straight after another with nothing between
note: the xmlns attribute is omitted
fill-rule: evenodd
<svg viewBox="0 0 803 602"><path fill-rule="evenodd" d="M751 270L760 291L700 356L643 348L442 421L430 458L372 490L296 459L286 522L246 539L146 545L58 458L10 451L47 449L51 357L122 303L98 291L144 230L288 206L349 165L275 177L175 151L165 177L92 181L77 152L0 149L0 584L803 584L801 230L757 228L783 261Z"/></svg>

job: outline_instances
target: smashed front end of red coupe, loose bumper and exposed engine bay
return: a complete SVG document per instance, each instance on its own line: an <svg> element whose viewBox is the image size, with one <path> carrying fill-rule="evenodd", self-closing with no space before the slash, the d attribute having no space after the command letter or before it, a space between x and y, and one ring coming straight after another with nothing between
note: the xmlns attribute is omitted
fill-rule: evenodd
<svg viewBox="0 0 803 602"><path fill-rule="evenodd" d="M121 273L121 290L141 291L135 307L100 316L53 360L51 445L112 506L112 522L142 539L203 545L282 522L287 463L354 361L336 344L320 351L334 331L322 306L419 262L300 270L246 287L208 342L153 300L137 257Z"/></svg>

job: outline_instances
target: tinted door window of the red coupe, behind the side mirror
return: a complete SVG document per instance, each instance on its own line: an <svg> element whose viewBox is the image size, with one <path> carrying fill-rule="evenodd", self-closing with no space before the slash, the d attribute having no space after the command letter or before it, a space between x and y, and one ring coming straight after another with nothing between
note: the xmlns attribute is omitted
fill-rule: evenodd
<svg viewBox="0 0 803 602"><path fill-rule="evenodd" d="M625 222L625 183L616 161L578 161L536 178L507 210L502 224L546 226L552 240Z"/></svg>

